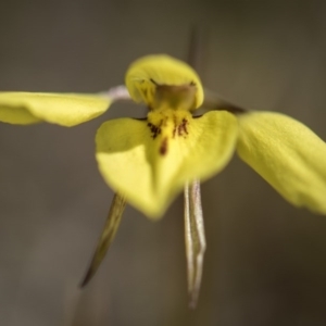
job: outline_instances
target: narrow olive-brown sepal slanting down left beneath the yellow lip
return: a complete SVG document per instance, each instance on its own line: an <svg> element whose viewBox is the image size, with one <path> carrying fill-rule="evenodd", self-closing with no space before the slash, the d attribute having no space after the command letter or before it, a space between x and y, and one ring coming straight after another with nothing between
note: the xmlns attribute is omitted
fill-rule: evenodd
<svg viewBox="0 0 326 326"><path fill-rule="evenodd" d="M114 195L114 198L112 200L112 204L110 208L110 212L102 231L102 235L99 239L98 247L96 249L96 252L92 256L91 263L89 265L89 268L86 273L85 278L83 279L80 287L86 286L89 280L92 278L92 276L98 271L102 260L104 259L110 244L112 243L116 230L120 226L121 218L123 215L123 212L126 206L126 200L124 196L121 196L118 193Z"/></svg>

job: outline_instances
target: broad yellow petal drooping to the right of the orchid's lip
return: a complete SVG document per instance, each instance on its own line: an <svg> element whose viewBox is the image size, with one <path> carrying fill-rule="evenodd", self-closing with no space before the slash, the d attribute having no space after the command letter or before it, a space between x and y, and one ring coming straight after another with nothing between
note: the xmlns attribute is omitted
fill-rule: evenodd
<svg viewBox="0 0 326 326"><path fill-rule="evenodd" d="M326 143L278 113L239 115L240 158L296 206L326 214Z"/></svg>

